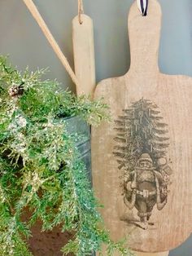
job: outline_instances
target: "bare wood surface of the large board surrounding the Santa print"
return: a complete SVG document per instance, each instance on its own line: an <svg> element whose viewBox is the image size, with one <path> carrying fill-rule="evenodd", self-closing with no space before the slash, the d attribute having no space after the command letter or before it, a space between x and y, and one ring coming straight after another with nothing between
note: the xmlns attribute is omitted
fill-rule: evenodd
<svg viewBox="0 0 192 256"><path fill-rule="evenodd" d="M129 12L131 66L122 77L100 82L94 98L103 97L111 108L111 123L92 129L92 167L94 191L105 206L101 213L114 240L128 236L130 248L158 253L181 245L192 230L192 78L159 73L158 51L161 10L156 0L149 2L149 11L142 17L137 3ZM116 124L123 110L140 99L150 99L168 124L167 157L172 163L172 184L163 210L154 207L147 230L122 221L122 216L137 216L124 204L113 149L116 146Z"/></svg>

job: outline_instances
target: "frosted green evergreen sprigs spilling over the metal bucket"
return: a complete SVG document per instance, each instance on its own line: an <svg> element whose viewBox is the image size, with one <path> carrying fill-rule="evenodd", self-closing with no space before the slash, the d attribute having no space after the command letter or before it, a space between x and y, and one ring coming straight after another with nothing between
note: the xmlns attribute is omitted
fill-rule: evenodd
<svg viewBox="0 0 192 256"><path fill-rule="evenodd" d="M131 255L103 227L76 148L79 135L70 135L63 121L80 116L98 125L109 119L107 105L41 81L43 73L20 73L0 56L0 255L32 255L27 239L37 219L42 231L60 225L75 233L63 254L85 256L105 244L108 255ZM26 207L28 222L22 221Z"/></svg>

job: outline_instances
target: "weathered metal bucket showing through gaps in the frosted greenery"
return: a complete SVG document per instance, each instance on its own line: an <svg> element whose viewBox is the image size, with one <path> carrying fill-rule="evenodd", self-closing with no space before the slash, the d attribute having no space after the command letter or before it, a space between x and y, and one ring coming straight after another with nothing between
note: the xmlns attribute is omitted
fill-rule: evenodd
<svg viewBox="0 0 192 256"><path fill-rule="evenodd" d="M90 152L90 127L80 117L65 118L66 128L69 134L81 135L76 146L80 152L81 159L85 162L88 178L91 181L91 152ZM35 256L49 255L62 256L60 249L68 240L72 239L72 234L61 233L59 227L51 232L41 232L41 223L32 227L33 236L29 239L29 248ZM72 255L72 254L69 254Z"/></svg>

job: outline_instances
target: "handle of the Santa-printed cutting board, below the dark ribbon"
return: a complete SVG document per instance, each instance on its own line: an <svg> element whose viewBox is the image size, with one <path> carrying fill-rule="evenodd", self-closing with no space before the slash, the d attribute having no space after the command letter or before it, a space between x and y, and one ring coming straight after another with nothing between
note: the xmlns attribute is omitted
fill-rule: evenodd
<svg viewBox="0 0 192 256"><path fill-rule="evenodd" d="M158 53L161 28L161 7L156 0L149 0L148 13L142 16L133 3L129 11L130 72L159 73Z"/></svg>

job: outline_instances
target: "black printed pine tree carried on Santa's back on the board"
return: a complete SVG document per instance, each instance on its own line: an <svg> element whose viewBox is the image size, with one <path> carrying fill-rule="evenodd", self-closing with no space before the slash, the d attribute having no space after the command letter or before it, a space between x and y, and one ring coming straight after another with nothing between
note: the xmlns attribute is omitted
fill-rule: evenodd
<svg viewBox="0 0 192 256"><path fill-rule="evenodd" d="M158 160L166 157L168 125L160 117L159 108L148 99L140 99L116 120L116 146L119 169L133 171L142 153L149 153L157 170Z"/></svg>

